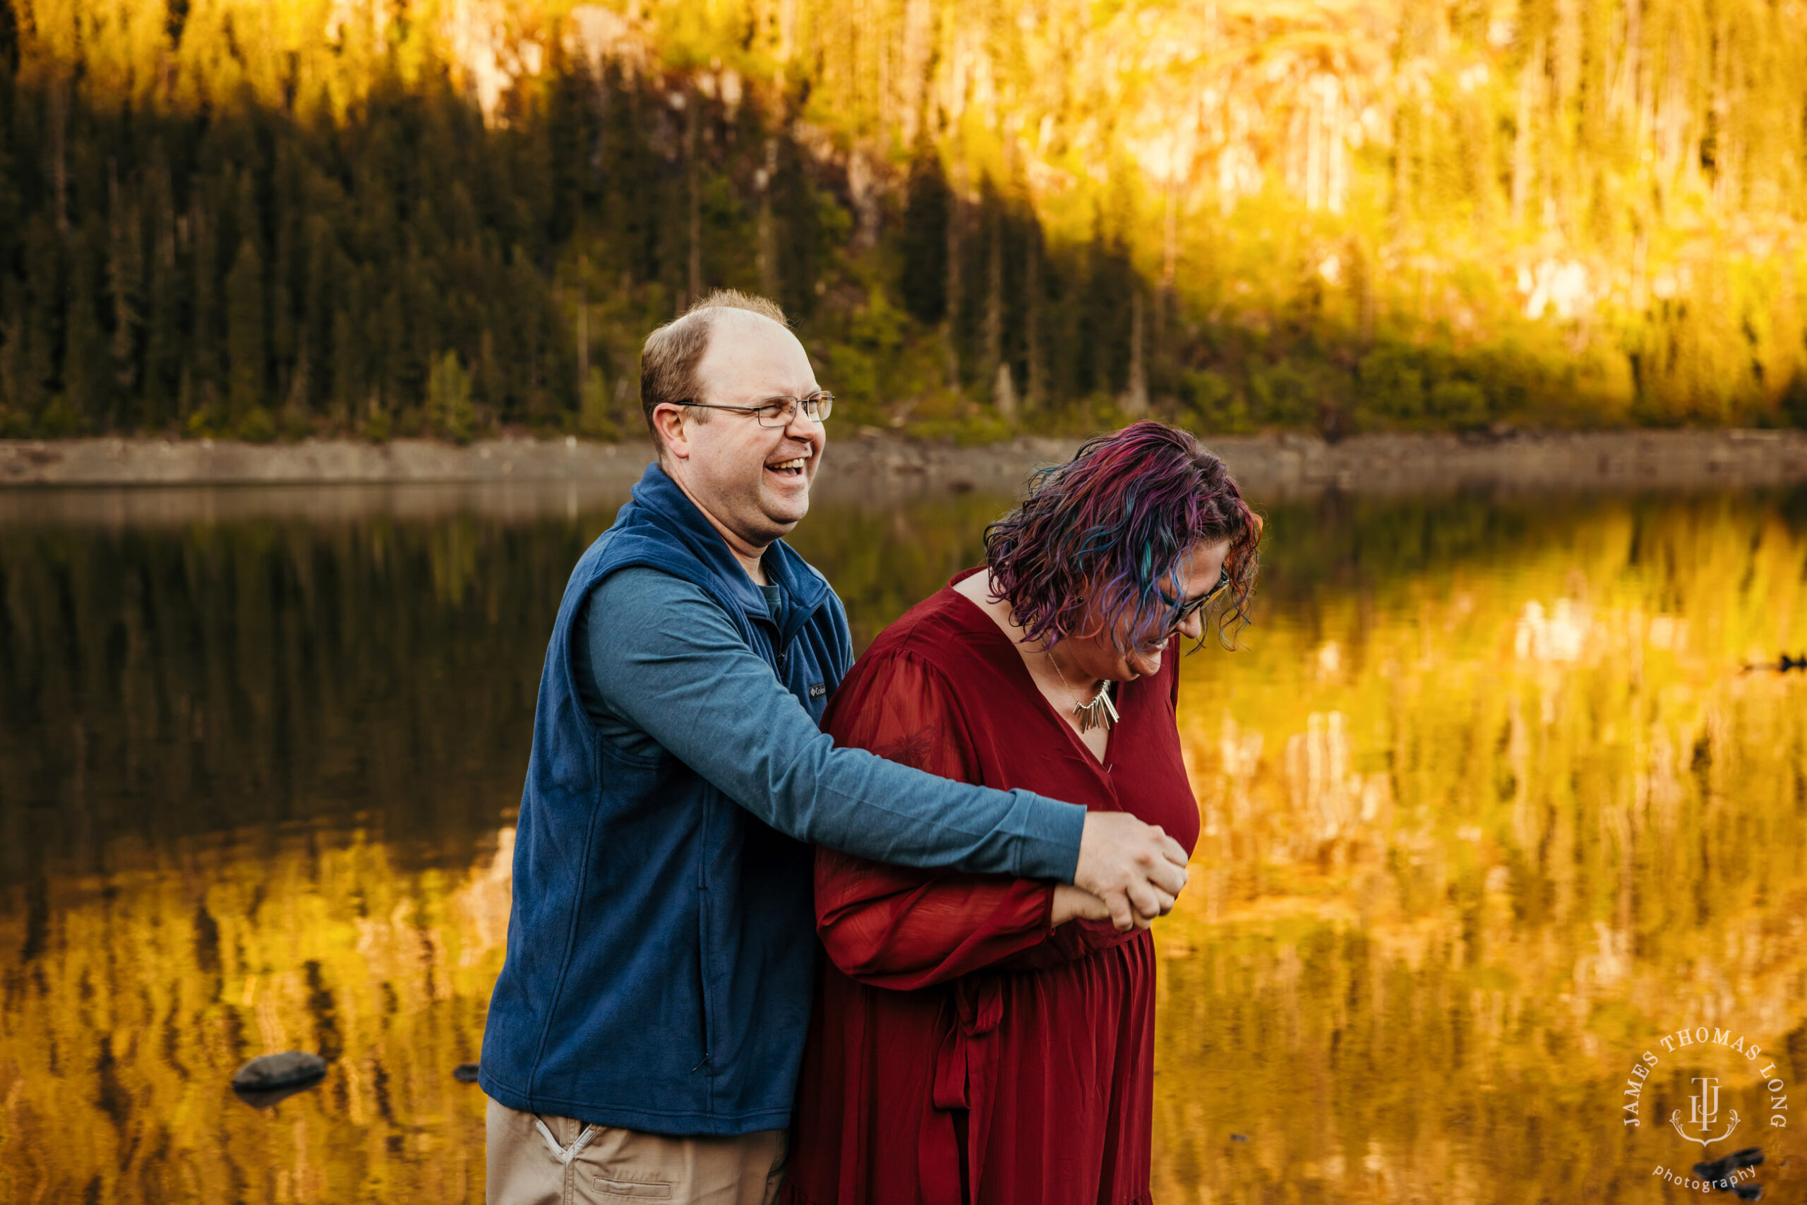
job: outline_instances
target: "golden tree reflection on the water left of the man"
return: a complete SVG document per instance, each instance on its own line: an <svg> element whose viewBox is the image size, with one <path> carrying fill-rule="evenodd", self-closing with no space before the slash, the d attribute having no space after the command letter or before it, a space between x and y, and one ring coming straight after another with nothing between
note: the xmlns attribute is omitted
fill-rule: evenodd
<svg viewBox="0 0 1807 1205"><path fill-rule="evenodd" d="M468 871L284 833L121 851L0 918L0 1200L482 1200L475 1060L508 929L513 829ZM36 929L34 929L36 927ZM318 1050L269 1109L244 1060Z"/></svg>

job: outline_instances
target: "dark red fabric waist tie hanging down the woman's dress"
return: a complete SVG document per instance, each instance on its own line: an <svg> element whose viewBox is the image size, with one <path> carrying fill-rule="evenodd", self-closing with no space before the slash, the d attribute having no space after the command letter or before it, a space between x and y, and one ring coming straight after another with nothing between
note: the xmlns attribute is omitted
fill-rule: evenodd
<svg viewBox="0 0 1807 1205"><path fill-rule="evenodd" d="M967 1111L967 1174L972 1180L967 1200L979 1200L979 1172L985 1167L997 1086L997 1023L1003 1014L1003 985L997 976L956 979L941 1004L934 1100L918 1154L923 1205L961 1205L956 1109Z"/></svg>

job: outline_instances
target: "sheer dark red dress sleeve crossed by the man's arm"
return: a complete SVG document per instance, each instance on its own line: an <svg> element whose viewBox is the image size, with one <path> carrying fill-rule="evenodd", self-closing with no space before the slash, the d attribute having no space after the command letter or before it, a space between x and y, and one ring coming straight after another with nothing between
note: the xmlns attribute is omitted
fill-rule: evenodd
<svg viewBox="0 0 1807 1205"><path fill-rule="evenodd" d="M826 723L837 746L981 784L952 687L907 652L855 667ZM1053 887L1043 882L885 865L826 847L815 855L822 945L835 967L873 986L913 990L996 967L1043 943L1052 909Z"/></svg>

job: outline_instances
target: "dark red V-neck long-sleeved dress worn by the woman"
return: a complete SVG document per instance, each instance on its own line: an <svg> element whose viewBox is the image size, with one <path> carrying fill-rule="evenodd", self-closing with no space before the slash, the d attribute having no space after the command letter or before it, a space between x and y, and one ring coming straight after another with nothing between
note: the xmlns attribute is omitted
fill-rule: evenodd
<svg viewBox="0 0 1807 1205"><path fill-rule="evenodd" d="M1010 638L943 589L885 629L824 723L837 744L1129 811L1191 849L1198 804L1175 726L1176 659L1178 647L1160 674L1119 688L1099 762ZM829 967L784 1201L1149 1200L1155 945L1108 921L1052 929L1052 905L1050 883L817 853Z"/></svg>

